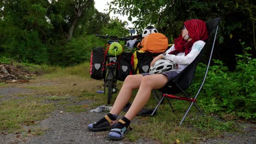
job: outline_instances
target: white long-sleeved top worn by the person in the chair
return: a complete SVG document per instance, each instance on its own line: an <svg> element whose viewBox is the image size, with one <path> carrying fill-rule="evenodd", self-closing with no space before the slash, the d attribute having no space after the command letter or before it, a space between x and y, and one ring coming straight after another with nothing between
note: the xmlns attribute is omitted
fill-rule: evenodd
<svg viewBox="0 0 256 144"><path fill-rule="evenodd" d="M181 73L181 71L187 67L194 59L199 55L200 51L202 50L203 46L205 46L205 42L202 40L196 41L191 51L185 56L185 52L179 52L177 55L169 55L168 53L174 51L174 45L170 47L165 53L166 56L163 56L165 59L170 59L172 62L178 64L177 73Z"/></svg>

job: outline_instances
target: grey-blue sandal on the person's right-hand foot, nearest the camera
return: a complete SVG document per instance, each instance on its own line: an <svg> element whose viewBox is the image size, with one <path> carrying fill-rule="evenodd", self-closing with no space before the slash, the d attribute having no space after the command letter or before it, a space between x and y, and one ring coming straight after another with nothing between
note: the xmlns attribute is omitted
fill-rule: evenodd
<svg viewBox="0 0 256 144"><path fill-rule="evenodd" d="M122 122L122 120L120 119L119 122L123 123L124 121ZM108 137L109 140L119 141L119 140L124 139L124 136L125 136L125 134L127 133L128 130L132 130L132 128L130 128L130 126L124 127L122 129L114 128L114 129L110 130L107 137Z"/></svg>

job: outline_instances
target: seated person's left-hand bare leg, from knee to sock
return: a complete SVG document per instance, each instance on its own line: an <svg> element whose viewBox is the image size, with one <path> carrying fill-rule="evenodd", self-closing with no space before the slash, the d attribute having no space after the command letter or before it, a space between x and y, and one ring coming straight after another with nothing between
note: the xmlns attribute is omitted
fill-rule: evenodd
<svg viewBox="0 0 256 144"><path fill-rule="evenodd" d="M139 85L141 85L142 79L143 79L143 76L140 74L129 75L126 77L123 83L123 86L120 89L120 92L118 94L118 97L117 99L115 99L115 103L110 113L119 115L121 110L131 99L132 90L139 88Z"/></svg>

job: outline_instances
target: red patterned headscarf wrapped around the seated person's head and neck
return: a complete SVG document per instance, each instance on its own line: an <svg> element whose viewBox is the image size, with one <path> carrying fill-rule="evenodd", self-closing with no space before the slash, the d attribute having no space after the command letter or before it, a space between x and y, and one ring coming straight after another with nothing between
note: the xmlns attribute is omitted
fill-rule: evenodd
<svg viewBox="0 0 256 144"><path fill-rule="evenodd" d="M192 40L184 40L182 38L182 34L180 34L177 39L174 39L175 50L171 51L169 54L176 55L179 52L185 52L186 56L191 51L193 44L197 40L208 39L208 31L205 22L197 19L192 19L185 21L184 26L188 29L188 35Z"/></svg>

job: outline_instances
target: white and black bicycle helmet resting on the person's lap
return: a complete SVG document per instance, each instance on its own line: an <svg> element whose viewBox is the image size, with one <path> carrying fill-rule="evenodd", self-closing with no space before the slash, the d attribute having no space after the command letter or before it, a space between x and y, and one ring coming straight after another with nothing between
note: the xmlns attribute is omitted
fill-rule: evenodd
<svg viewBox="0 0 256 144"><path fill-rule="evenodd" d="M176 63L173 63L169 59L159 59L149 69L149 75L161 74L166 71L176 70Z"/></svg>

